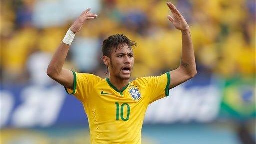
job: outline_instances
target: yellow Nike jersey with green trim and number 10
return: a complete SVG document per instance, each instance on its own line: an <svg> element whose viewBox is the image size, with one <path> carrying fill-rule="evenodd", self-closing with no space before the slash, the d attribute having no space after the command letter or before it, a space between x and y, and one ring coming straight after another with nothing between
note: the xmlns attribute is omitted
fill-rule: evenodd
<svg viewBox="0 0 256 144"><path fill-rule="evenodd" d="M88 117L91 143L141 143L147 106L169 95L170 73L137 78L118 90L108 78L73 72L73 90Z"/></svg>

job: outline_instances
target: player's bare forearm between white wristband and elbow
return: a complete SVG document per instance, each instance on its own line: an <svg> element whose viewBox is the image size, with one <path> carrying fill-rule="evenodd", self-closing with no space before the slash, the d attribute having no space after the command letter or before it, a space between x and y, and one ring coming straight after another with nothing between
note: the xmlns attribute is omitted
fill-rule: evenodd
<svg viewBox="0 0 256 144"><path fill-rule="evenodd" d="M47 74L50 77L55 77L61 73L69 47L70 45L63 42L58 46L47 69Z"/></svg>

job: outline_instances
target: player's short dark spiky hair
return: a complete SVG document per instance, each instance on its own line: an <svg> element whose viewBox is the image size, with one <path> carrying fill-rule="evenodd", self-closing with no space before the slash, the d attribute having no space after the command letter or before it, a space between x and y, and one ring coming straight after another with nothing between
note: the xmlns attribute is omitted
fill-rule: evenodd
<svg viewBox="0 0 256 144"><path fill-rule="evenodd" d="M112 49L115 48L115 51L116 51L117 48L122 44L127 44L130 48L132 46L136 46L135 41L130 40L128 37L126 37L123 34L111 35L103 41L103 44L102 44L103 56L111 57Z"/></svg>

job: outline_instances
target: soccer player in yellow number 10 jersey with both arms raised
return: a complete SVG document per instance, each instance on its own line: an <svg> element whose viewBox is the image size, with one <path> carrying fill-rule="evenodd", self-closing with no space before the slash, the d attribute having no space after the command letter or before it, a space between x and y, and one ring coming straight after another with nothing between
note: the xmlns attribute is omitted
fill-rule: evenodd
<svg viewBox="0 0 256 144"><path fill-rule="evenodd" d="M97 17L89 12L90 8L75 20L54 53L47 74L82 102L88 116L91 143L141 143L141 128L147 106L168 96L169 89L195 76L189 26L172 3L166 4L173 14L173 17L168 15L167 18L182 35L180 66L173 71L129 81L135 42L122 34L109 36L103 41L103 62L109 70L108 78L64 69L63 64L75 33L79 32L86 20Z"/></svg>

